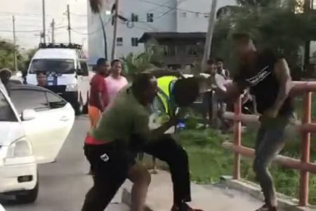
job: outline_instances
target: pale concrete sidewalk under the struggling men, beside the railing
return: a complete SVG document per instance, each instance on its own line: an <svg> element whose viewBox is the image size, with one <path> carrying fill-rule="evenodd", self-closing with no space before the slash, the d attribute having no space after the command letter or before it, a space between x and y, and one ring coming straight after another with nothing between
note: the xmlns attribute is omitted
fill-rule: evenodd
<svg viewBox="0 0 316 211"><path fill-rule="evenodd" d="M191 188L192 207L204 211L252 211L263 204L246 193L220 185L192 184ZM173 191L170 174L164 171L152 174L147 205L154 211L166 211L171 209L172 203Z"/></svg>

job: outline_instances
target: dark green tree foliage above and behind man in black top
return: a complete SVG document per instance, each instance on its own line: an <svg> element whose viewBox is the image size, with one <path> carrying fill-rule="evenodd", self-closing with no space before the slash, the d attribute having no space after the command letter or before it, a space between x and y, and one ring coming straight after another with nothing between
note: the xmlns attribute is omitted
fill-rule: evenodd
<svg viewBox="0 0 316 211"><path fill-rule="evenodd" d="M275 4L268 1L237 1L239 6L221 9L216 23L213 51L228 58L230 35L250 33L259 49L269 48L284 55L292 67L300 65L301 51L306 40L316 39L315 12L294 13L296 1ZM232 57L229 57L232 60ZM233 63L232 63L233 64Z"/></svg>

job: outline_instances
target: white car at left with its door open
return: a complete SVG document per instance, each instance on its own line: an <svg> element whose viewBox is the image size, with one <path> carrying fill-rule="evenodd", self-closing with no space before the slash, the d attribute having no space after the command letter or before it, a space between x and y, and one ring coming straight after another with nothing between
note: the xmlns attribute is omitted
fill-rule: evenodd
<svg viewBox="0 0 316 211"><path fill-rule="evenodd" d="M0 193L32 203L39 190L37 163L53 162L74 123L60 96L29 85L0 87Z"/></svg>

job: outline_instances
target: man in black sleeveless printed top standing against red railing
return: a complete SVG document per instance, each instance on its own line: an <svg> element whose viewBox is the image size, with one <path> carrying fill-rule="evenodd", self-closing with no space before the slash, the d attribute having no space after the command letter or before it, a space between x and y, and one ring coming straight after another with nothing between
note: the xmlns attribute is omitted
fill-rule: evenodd
<svg viewBox="0 0 316 211"><path fill-rule="evenodd" d="M284 129L294 117L289 67L284 58L272 51L256 51L249 34L234 34L233 41L239 72L228 87L227 97L235 98L249 88L256 98L261 127L256 139L254 172L265 196L265 205L257 211L275 211L277 198L268 167L284 147Z"/></svg>

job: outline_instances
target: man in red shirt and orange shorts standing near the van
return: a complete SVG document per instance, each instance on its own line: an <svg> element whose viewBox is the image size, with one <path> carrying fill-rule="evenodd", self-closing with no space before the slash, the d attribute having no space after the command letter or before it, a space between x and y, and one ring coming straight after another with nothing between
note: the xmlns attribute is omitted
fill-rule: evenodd
<svg viewBox="0 0 316 211"><path fill-rule="evenodd" d="M107 86L105 84L105 76L109 72L110 64L105 58L99 58L96 65L96 75L91 79L90 99L88 106L88 115L91 122L91 128L95 128L100 119L101 113L105 110L109 102L107 94ZM86 144L86 143L85 143ZM93 174L93 166L91 165L89 174Z"/></svg>

